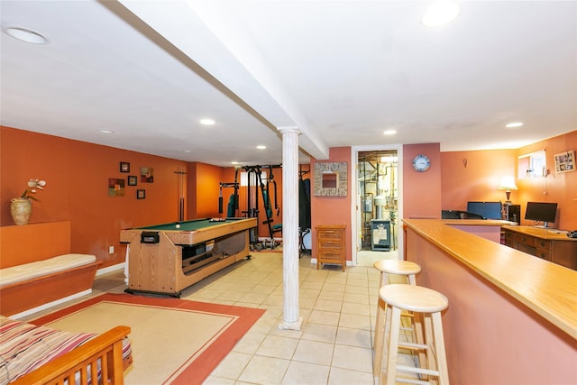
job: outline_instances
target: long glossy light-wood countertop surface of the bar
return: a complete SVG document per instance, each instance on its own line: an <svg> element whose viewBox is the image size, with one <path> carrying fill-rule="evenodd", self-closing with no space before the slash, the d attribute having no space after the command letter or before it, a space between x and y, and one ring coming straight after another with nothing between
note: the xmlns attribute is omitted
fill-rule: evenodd
<svg viewBox="0 0 577 385"><path fill-rule="evenodd" d="M465 233L440 219L403 222L577 339L577 271Z"/></svg>

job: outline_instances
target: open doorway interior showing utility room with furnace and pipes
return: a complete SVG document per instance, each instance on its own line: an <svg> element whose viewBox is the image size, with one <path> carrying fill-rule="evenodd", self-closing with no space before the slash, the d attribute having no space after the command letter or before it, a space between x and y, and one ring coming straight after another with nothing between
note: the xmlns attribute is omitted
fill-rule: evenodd
<svg viewBox="0 0 577 385"><path fill-rule="evenodd" d="M356 265L398 259L398 149L356 151ZM354 260L354 256L353 256Z"/></svg>

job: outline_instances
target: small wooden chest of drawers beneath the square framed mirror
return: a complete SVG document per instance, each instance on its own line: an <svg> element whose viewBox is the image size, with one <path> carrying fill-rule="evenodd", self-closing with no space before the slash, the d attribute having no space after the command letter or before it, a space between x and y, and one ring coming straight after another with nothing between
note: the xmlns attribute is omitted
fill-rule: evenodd
<svg viewBox="0 0 577 385"><path fill-rule="evenodd" d="M321 263L346 266L344 260L345 225L316 226L316 270Z"/></svg>

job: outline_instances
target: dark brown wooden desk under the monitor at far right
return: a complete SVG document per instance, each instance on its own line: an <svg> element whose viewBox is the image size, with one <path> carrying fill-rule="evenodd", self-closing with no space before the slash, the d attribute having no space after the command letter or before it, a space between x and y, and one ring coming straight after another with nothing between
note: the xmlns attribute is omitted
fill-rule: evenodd
<svg viewBox="0 0 577 385"><path fill-rule="evenodd" d="M577 270L577 239L554 229L503 226L505 244L545 261Z"/></svg>

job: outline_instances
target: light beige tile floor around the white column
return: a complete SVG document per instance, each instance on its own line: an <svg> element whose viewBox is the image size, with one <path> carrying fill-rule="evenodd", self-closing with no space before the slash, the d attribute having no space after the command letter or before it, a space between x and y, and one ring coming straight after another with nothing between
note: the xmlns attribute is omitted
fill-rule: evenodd
<svg viewBox="0 0 577 385"><path fill-rule="evenodd" d="M382 259L396 257L381 255ZM278 327L283 306L282 252L252 252L251 260L239 261L183 291L183 299L267 309L206 384L374 383L372 340L379 272L371 261L344 272L335 265L316 270L306 253L298 262L299 316L303 317L299 331ZM123 272L114 271L96 277L93 296L124 288Z"/></svg>

